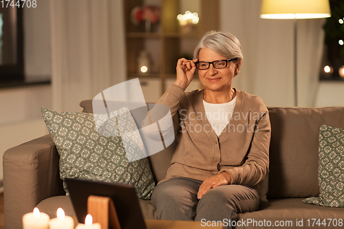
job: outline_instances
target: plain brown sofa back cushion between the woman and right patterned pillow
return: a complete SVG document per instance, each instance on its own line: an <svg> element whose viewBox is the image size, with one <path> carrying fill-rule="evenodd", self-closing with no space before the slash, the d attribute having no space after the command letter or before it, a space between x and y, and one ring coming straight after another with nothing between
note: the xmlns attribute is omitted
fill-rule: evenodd
<svg viewBox="0 0 344 229"><path fill-rule="evenodd" d="M319 128L344 128L344 107L269 108L269 198L319 195Z"/></svg>

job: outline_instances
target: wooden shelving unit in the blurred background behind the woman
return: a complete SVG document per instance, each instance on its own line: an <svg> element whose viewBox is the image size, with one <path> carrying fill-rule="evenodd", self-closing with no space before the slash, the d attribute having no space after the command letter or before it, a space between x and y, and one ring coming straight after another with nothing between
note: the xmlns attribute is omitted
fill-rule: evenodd
<svg viewBox="0 0 344 229"><path fill-rule="evenodd" d="M154 4L161 7L159 24L152 28L154 32L145 32L144 23L133 25L131 12L136 6L144 6L146 0L124 1L125 12L125 39L127 58L127 78L140 78L147 98L160 98L167 87L176 78L175 67L182 56L192 58L193 49L202 35L209 30L219 30L219 0L195 0L192 6L197 6L200 21L187 33L181 30L177 15L190 8L191 3L185 0L154 0ZM188 1L189 2L189 1ZM188 5L189 4L189 5ZM151 58L153 73L138 73L138 56L145 50ZM194 78L198 78L197 73ZM193 82L193 88L199 88L200 83ZM149 97L151 96L151 97Z"/></svg>

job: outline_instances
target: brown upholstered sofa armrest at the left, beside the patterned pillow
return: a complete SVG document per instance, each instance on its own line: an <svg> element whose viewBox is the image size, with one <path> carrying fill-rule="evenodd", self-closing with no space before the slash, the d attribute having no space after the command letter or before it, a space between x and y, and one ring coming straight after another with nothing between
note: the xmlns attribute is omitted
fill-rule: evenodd
<svg viewBox="0 0 344 229"><path fill-rule="evenodd" d="M47 197L63 195L58 153L50 135L3 154L5 228L22 228L21 217Z"/></svg>

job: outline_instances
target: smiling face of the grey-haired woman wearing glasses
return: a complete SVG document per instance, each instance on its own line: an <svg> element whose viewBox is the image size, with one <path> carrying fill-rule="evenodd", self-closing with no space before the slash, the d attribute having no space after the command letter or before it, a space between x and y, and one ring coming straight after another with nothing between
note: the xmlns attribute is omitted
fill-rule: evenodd
<svg viewBox="0 0 344 229"><path fill-rule="evenodd" d="M212 62L226 59L228 58L217 54L211 49L202 48L200 50L199 61ZM222 69L216 69L213 65L210 65L208 69L198 70L198 74L206 90L228 93L232 88L233 77L239 72L240 65L241 61L230 61L227 67Z"/></svg>

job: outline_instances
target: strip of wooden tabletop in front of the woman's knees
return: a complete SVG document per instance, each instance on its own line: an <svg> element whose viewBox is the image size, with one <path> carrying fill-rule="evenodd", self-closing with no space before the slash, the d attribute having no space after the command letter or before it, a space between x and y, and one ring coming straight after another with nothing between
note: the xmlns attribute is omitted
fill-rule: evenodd
<svg viewBox="0 0 344 229"><path fill-rule="evenodd" d="M173 221L173 220L155 220L146 219L147 229L202 229L209 228L202 226L200 221ZM224 229L224 226L213 226L214 229Z"/></svg>

